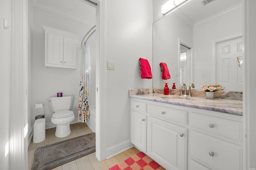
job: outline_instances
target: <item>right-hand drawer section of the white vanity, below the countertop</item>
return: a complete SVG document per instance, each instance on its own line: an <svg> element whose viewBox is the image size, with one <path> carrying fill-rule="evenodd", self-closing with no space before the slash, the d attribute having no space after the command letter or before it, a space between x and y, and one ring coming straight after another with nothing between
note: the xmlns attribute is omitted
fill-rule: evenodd
<svg viewBox="0 0 256 170"><path fill-rule="evenodd" d="M242 116L190 113L190 168L242 170Z"/></svg>

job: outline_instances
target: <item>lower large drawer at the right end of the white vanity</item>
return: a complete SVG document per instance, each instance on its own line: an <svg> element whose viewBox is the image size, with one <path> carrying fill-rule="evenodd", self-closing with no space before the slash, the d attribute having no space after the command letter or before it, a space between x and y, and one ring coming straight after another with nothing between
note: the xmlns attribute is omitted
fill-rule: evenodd
<svg viewBox="0 0 256 170"><path fill-rule="evenodd" d="M210 169L242 170L242 147L196 131L190 142L191 158Z"/></svg>

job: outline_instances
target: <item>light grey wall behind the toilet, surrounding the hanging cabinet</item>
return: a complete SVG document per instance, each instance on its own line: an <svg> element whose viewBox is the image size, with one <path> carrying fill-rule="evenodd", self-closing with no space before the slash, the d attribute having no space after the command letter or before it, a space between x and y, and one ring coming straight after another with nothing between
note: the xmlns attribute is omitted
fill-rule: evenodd
<svg viewBox="0 0 256 170"><path fill-rule="evenodd" d="M94 16L92 16L94 17ZM78 93L80 83L80 62L78 69L70 68L55 68L44 66L44 33L42 25L61 29L81 35L81 39L86 32L92 27L78 21L70 20L56 14L34 8L33 12L33 57L32 57L32 120L35 121L35 116L42 114L43 109L34 109L34 104L45 104L46 128L55 127L51 123L52 111L50 111L48 100L49 96L56 96L57 92L62 92L63 96L73 95L74 111L77 122L78 113ZM95 62L95 37L92 35L88 40L90 44L91 62ZM80 52L79 52L80 54ZM79 57L80 61L80 57ZM92 63L92 67L95 63ZM94 91L94 90L93 90ZM95 98L94 98L95 100Z"/></svg>

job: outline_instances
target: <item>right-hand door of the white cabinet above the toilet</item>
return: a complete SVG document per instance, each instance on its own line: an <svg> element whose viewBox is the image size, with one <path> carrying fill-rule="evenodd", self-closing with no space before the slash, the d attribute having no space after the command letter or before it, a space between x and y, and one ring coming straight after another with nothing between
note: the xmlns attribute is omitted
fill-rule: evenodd
<svg viewBox="0 0 256 170"><path fill-rule="evenodd" d="M63 65L77 66L78 39L64 37Z"/></svg>

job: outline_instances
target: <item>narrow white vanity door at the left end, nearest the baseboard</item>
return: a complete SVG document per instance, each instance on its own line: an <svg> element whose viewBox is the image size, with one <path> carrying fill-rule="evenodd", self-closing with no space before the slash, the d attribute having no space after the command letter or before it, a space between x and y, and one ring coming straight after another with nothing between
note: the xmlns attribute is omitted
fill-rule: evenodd
<svg viewBox="0 0 256 170"><path fill-rule="evenodd" d="M146 152L146 115L135 111L131 112L131 142Z"/></svg>

